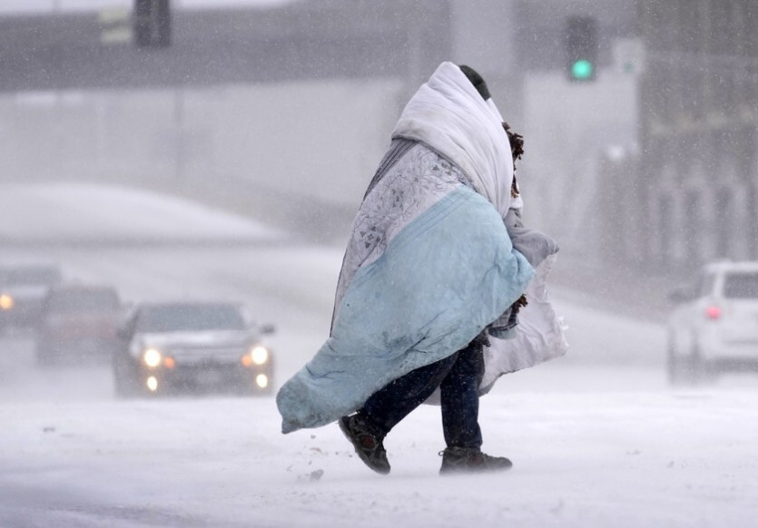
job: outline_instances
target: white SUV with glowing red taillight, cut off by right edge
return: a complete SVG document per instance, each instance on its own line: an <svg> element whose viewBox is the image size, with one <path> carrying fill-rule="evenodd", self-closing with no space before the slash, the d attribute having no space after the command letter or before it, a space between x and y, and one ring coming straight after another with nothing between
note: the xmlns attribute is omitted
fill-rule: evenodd
<svg viewBox="0 0 758 528"><path fill-rule="evenodd" d="M758 262L716 262L670 296L668 378L698 383L725 371L758 372Z"/></svg>

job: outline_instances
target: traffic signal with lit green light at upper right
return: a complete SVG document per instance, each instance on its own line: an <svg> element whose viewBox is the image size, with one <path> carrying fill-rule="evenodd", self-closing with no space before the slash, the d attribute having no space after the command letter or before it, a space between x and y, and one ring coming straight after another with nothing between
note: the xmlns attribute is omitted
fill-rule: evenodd
<svg viewBox="0 0 758 528"><path fill-rule="evenodd" d="M566 18L564 49L570 81L594 81L597 71L597 21L592 16Z"/></svg>

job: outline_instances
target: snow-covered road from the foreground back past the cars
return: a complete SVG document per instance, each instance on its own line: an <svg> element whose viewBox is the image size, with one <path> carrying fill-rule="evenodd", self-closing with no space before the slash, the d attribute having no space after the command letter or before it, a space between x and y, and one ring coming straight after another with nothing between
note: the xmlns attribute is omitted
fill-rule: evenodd
<svg viewBox="0 0 758 528"><path fill-rule="evenodd" d="M0 257L54 259L132 300L244 300L279 328L281 383L326 337L341 251L56 246ZM569 356L482 399L484 448L514 468L476 476L438 475L437 407L389 435L393 469L381 476L334 425L281 435L273 397L117 400L107 367L39 370L28 336L0 338L0 527L753 526L756 379L673 390L662 327L556 305Z"/></svg>

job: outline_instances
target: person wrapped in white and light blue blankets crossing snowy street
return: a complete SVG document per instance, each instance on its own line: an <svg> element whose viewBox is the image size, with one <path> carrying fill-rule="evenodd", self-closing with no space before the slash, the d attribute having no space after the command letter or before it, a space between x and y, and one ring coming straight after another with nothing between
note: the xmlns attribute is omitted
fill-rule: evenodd
<svg viewBox="0 0 758 528"><path fill-rule="evenodd" d="M277 394L283 433L340 420L361 460L387 474L384 435L439 386L442 473L510 466L480 451L478 394L513 364L495 362L483 385L485 329L510 320L557 250L517 225L523 244L514 248L513 189L512 149L487 85L470 68L440 64L402 112L361 203L330 337ZM561 345L541 340L527 363L562 354Z"/></svg>

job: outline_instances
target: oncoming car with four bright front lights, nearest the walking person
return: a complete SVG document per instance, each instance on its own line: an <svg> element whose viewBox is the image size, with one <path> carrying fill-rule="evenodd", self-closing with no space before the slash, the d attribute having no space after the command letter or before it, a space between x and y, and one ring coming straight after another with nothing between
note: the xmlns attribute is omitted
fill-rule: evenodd
<svg viewBox="0 0 758 528"><path fill-rule="evenodd" d="M241 304L166 302L133 308L113 355L117 396L271 393L273 358Z"/></svg>

